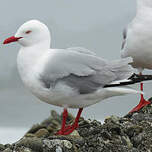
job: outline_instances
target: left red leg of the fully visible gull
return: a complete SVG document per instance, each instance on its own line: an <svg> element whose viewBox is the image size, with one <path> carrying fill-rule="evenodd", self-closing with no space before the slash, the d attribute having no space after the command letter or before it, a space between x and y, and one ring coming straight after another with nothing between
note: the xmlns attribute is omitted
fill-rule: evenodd
<svg viewBox="0 0 152 152"><path fill-rule="evenodd" d="M66 108L64 108L63 115L62 115L62 117L63 117L63 118L62 118L62 127L61 127L61 129L57 132L57 135L62 135L62 134L64 134L67 116L68 116L68 111L67 111Z"/></svg>

